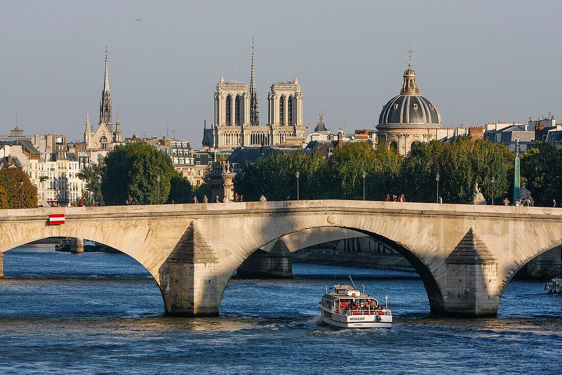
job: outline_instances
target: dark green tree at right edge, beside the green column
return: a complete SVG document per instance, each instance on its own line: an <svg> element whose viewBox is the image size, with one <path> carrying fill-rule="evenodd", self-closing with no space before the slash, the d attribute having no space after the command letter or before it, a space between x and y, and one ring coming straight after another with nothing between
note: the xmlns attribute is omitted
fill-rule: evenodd
<svg viewBox="0 0 562 375"><path fill-rule="evenodd" d="M562 202L562 151L545 142L537 142L521 158L521 176L531 191L535 206L551 206L552 199Z"/></svg>

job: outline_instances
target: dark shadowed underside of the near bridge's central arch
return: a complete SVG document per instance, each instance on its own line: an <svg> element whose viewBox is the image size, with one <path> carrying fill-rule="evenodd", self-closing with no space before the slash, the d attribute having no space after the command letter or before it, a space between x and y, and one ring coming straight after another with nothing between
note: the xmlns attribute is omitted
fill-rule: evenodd
<svg viewBox="0 0 562 375"><path fill-rule="evenodd" d="M425 287L425 291L427 292L430 310L436 311L436 312L437 311L443 311L444 306L445 306L444 296L443 296L443 293L441 291L441 287L439 287L438 280L437 280L436 276L432 273L431 266L429 264L427 264L427 260L425 260L425 258L420 256L419 254L416 254L413 251L413 249L409 248L407 245L405 245L403 243L400 243L400 242L397 242L396 240L392 240L392 239L388 238L387 236L384 236L382 234L376 233L376 232L371 231L371 230L361 229L360 227L356 227L356 226L323 225L323 226L310 226L310 227L306 227L305 229L294 230L294 231L291 231L290 233L287 233L285 235L278 236L277 238L275 238L271 242L277 242L278 240L283 239L284 237L289 236L289 235L294 236L294 235L298 235L298 233L307 233L306 239L301 240L299 242L299 244L297 246L298 248L297 247L289 248L289 251L295 252L298 249L309 247L309 246L324 242L324 240L322 238L315 238L314 232L318 231L318 230L322 230L322 229L327 229L327 228L343 229L343 230L346 230L347 233L356 233L358 235L360 235L360 234L367 235L367 236L370 236L374 239L377 239L380 242L382 242L384 244L387 244L389 247L395 249L398 253L400 253L400 255L404 256L404 258L406 258L406 260L408 262L410 262L410 264L414 267L415 271L418 273L418 275L422 279L422 282L423 282L424 287ZM262 247L260 247L260 248L265 247L266 245L270 244L271 242L264 243L262 245ZM243 263L243 261L245 261L248 257L250 257L256 250L257 249L252 250L252 251L244 252L244 255L240 258L239 263L237 264L236 267L238 268ZM230 275L232 276L232 273ZM227 283L228 283L228 280L227 280ZM224 291L223 291L223 293L224 293ZM221 299L222 299L222 294L221 294Z"/></svg>

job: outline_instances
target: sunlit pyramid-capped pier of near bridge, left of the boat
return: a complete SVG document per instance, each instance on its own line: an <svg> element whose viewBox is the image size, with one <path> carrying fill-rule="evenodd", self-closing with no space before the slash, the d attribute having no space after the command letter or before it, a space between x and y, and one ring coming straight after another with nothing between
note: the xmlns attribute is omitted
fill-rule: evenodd
<svg viewBox="0 0 562 375"><path fill-rule="evenodd" d="M166 315L219 315L224 291L224 287L219 287L219 258L196 221L185 231L159 272Z"/></svg>

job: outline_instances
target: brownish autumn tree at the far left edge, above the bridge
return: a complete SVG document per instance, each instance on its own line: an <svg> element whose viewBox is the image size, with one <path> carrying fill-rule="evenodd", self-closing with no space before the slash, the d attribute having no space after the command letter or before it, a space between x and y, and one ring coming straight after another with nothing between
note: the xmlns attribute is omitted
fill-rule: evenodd
<svg viewBox="0 0 562 375"><path fill-rule="evenodd" d="M24 185L21 185L21 181ZM0 208L36 208L37 187L20 168L0 169Z"/></svg>

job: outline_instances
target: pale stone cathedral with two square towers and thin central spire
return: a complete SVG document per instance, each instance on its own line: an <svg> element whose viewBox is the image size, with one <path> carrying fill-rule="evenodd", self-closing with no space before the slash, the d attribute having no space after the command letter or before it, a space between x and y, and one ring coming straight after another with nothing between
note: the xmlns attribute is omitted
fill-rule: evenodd
<svg viewBox="0 0 562 375"><path fill-rule="evenodd" d="M268 95L268 123L260 124L257 105L256 64L252 43L250 90L246 83L220 78L215 92L215 121L203 133L203 146L232 149L237 146L279 145L289 137L304 137L302 92L298 79L274 82Z"/></svg>

